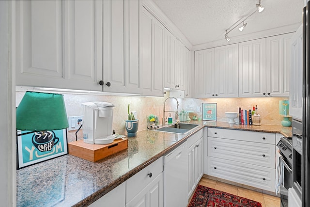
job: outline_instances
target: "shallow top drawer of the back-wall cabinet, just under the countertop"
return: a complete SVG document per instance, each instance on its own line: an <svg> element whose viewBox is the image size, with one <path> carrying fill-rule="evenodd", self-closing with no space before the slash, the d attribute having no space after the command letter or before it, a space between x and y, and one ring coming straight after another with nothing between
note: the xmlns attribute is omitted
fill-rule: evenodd
<svg viewBox="0 0 310 207"><path fill-rule="evenodd" d="M224 128L208 128L208 137L227 138L257 143L276 144L275 133L243 131Z"/></svg>

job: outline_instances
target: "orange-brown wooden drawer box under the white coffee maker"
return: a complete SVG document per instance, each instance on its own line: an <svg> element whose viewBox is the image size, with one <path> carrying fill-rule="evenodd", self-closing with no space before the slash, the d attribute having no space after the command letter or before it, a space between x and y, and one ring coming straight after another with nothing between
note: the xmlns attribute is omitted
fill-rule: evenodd
<svg viewBox="0 0 310 207"><path fill-rule="evenodd" d="M83 140L68 143L68 153L92 162L106 158L128 148L128 139L114 140L109 144L89 144Z"/></svg>

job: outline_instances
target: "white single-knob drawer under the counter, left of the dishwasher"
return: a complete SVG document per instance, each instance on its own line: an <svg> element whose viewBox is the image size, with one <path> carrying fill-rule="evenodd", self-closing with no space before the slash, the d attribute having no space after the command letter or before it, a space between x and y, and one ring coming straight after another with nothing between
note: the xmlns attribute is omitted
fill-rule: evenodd
<svg viewBox="0 0 310 207"><path fill-rule="evenodd" d="M163 158L157 159L155 162L145 167L136 175L127 180L126 201L134 198L143 188L150 184L161 172L163 172ZM152 173L150 177L148 174Z"/></svg>

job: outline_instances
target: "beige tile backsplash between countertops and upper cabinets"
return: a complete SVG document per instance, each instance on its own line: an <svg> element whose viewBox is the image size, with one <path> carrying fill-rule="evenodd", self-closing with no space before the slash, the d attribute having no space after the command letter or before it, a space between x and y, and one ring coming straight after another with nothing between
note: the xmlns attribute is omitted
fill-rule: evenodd
<svg viewBox="0 0 310 207"><path fill-rule="evenodd" d="M24 96L24 92L16 92L16 107ZM128 117L127 107L130 104L130 111L137 111L139 119L139 130L146 129L146 116L155 114L159 116L159 122L162 123L163 106L166 98L169 97L169 92L165 97L132 97L132 96L102 96L102 95L77 95L64 94L64 102L68 116L83 115L81 103L89 101L105 101L114 104L113 108L113 129L116 133L126 135L125 120ZM253 105L258 106L258 111L262 117L262 124L280 125L283 119L279 115L279 100L287 100L288 97L260 97L260 98L178 98L179 110L183 107L192 107L194 113L190 113L190 118L193 115L201 116L201 112L196 112L197 107L202 106L202 103L217 103L217 121L228 121L225 117L226 111L238 112L238 108L252 109ZM175 111L176 101L168 99L166 102L166 111ZM169 113L166 112L165 116ZM175 114L171 113L173 119ZM81 138L80 133L78 138ZM75 131L68 133L68 141L75 140Z"/></svg>

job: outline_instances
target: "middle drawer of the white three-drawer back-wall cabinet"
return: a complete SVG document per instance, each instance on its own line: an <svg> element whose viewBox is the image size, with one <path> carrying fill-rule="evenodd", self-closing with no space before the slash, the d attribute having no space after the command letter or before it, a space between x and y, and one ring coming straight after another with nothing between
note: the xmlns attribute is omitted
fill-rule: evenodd
<svg viewBox="0 0 310 207"><path fill-rule="evenodd" d="M275 168L275 145L208 137L208 156Z"/></svg>

